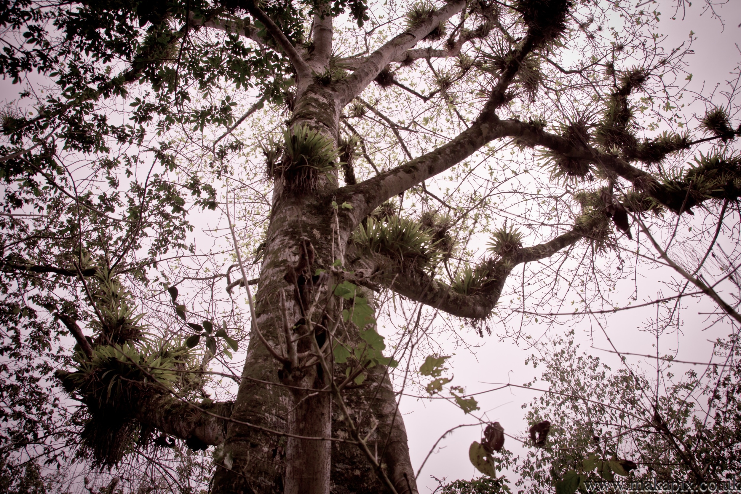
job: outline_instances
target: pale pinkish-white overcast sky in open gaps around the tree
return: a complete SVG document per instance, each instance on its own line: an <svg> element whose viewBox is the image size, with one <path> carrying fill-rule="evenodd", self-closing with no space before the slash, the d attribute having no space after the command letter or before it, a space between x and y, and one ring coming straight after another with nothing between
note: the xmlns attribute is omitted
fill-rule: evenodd
<svg viewBox="0 0 741 494"><path fill-rule="evenodd" d="M694 3L692 7L688 7L685 20L681 19L681 13L678 14L677 20L671 20L671 13L668 9L659 9L662 10L659 31L669 36L664 43L665 46L679 45L682 41L688 39L691 30L694 31L694 36L697 36L697 40L693 44L695 54L688 58L688 62L690 62L688 71L694 75L691 88L700 90L702 85L705 84L705 92L708 92L708 88L712 85L725 82L728 72L738 62L741 62L740 50L734 45L736 43L741 44L741 28L738 27L741 23L741 0L730 0L728 4L718 7L717 12L724 19L725 28L717 19L711 19L710 13L700 16L704 7L702 0L697 0ZM15 99L18 91L19 87L10 85L10 81L0 81L0 100ZM250 131L245 129L245 134L249 133ZM262 163L258 163L259 161L259 159L256 159L254 165L262 165ZM221 228L226 226L223 219L219 220L218 214L210 211L205 211L202 214L191 214L190 220L196 225L196 232L198 228L210 230L217 224ZM635 231L635 225L632 228ZM225 233L224 230L219 232L219 234ZM250 232L245 233L250 234ZM218 251L225 246L223 239L212 240L204 234L196 234L195 238L199 251L209 251L212 248ZM481 247L483 248L483 245ZM521 272L521 269L514 272L514 277L510 280L508 286L514 283L513 280L518 272ZM637 280L639 292L635 303L655 299L657 293L662 289L664 294L670 294L661 282L673 276L674 272L667 269L639 269ZM622 300L625 300L633 292L633 289L634 282L632 280L619 283L618 297L615 300L620 300L622 294L625 295ZM507 289L505 289L506 291ZM185 294L186 292L182 293ZM167 297L167 295L165 294L163 297ZM245 292L239 292L235 299L245 302ZM689 298L683 300L682 306L685 309L682 312L682 331L663 335L659 340L659 353L661 355L674 355L679 360L708 361L711 358L712 350L712 345L708 343L708 340L728 335L728 326L717 325L707 331L702 331L706 326L706 316L697 314L697 312L711 312L715 309L713 304L708 300L702 300L702 303L697 303L696 300ZM246 309L246 303L242 303L242 309ZM639 327L644 326L646 321L655 317L655 315L655 306L612 314L607 319L608 323L605 330L619 350L654 353L656 352L653 346L655 343L654 335L641 331ZM586 319L579 323L571 322L568 317L562 319L565 324L559 326L559 334L565 334L573 327L576 329L577 339L582 342L582 349L588 349L590 346L597 349L608 349L610 347L597 324L591 324ZM534 337L545 335L544 340L550 335L555 335L554 332L545 334L545 326L542 326L540 332L539 326L529 326L529 328L529 333ZM455 354L451 360L448 360L450 371L446 374L455 376L452 385L465 386L467 393L473 393L496 387L488 383L511 382L522 384L539 375L539 369L524 365L525 358L534 352L533 349L524 349L522 345L518 347L511 339L501 340L496 336L501 328L493 326L492 329L494 334L485 336L483 339L473 335L470 330L465 332L468 343L481 345L473 352L469 352L462 347L455 348L452 338L448 340L445 340L444 337L439 338L439 343L444 348L442 353L445 355ZM591 337L594 339L590 340ZM620 363L616 355L596 349L590 350L590 352L602 358L612 369L618 369ZM244 352L241 350L239 355L235 355L232 361L233 365L241 369L243 358ZM642 360L637 357L628 358L631 363L638 363ZM641 364L641 368L648 371L655 369L654 366L655 361ZM689 367L691 366L687 364L675 363L673 369L677 374L682 374ZM699 368L699 366L697 367ZM409 392L416 393L413 390ZM485 395L478 395L476 398L479 401L480 410L477 413L485 412L485 418L488 421L499 421L508 434L524 437L528 424L525 424L525 410L521 406L538 395L539 393L528 392L523 389L503 389ZM444 400L416 399L405 396L402 398L401 408L405 413L405 425L415 470L419 468L429 449L445 430L459 424L476 422L476 419L464 415L461 409ZM427 464L425 464L424 470L419 475L417 481L420 493L427 494L437 487L438 483L431 478L431 475L441 479L447 478L447 481L458 478L470 479L478 476L478 472L468 460L468 446L471 441L478 441L481 435L481 427L465 427L456 430L448 438L441 441L440 448L431 455ZM513 450L515 454L525 452L525 449L520 447L512 438L507 438L505 446ZM514 475L509 475L509 478L513 483L516 480Z"/></svg>

